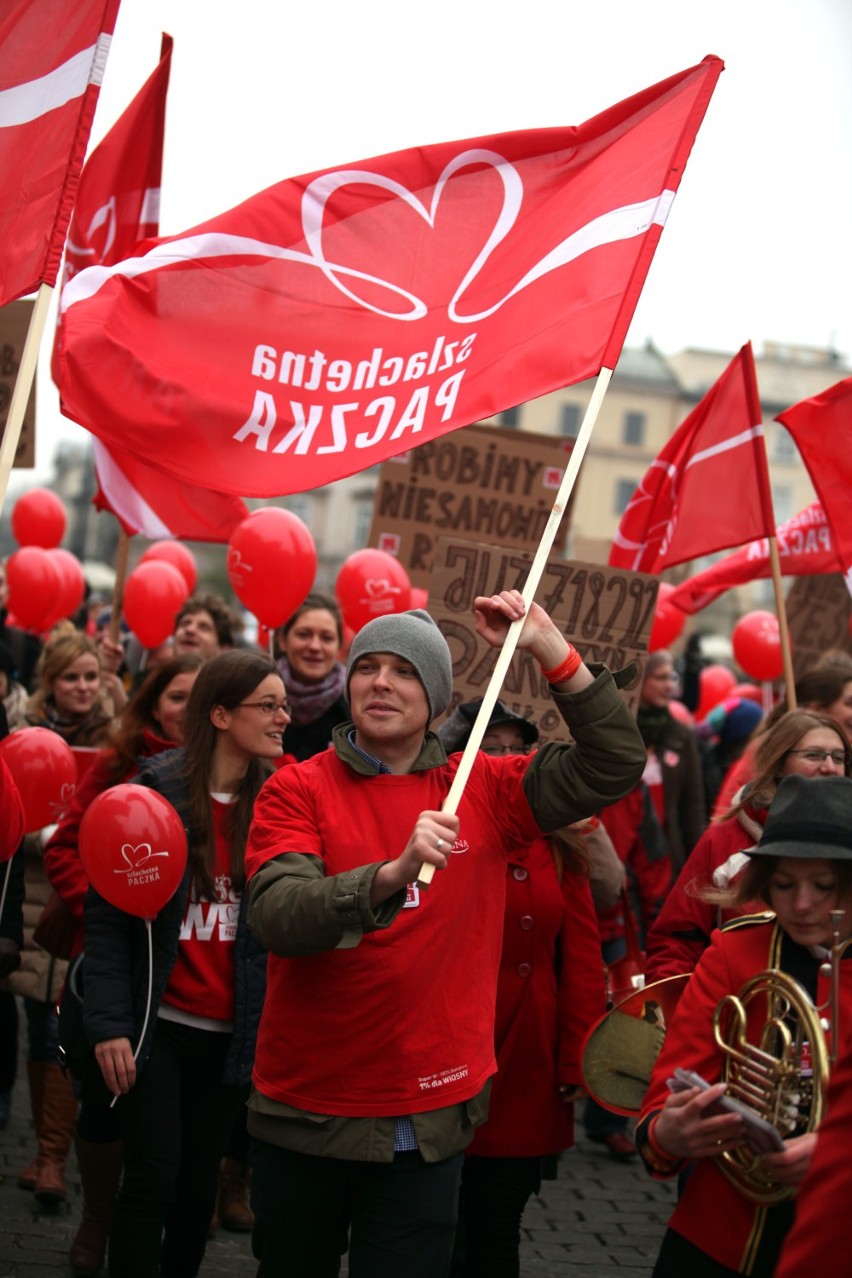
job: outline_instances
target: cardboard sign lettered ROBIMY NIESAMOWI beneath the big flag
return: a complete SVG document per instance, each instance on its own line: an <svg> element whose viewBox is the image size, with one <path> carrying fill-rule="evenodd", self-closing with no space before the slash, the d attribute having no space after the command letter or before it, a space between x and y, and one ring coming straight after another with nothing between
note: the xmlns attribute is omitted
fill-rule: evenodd
<svg viewBox="0 0 852 1278"><path fill-rule="evenodd" d="M411 585L429 585L438 537L531 550L553 507L574 440L469 426L384 461L369 544L396 556ZM557 534L565 544L574 493Z"/></svg>

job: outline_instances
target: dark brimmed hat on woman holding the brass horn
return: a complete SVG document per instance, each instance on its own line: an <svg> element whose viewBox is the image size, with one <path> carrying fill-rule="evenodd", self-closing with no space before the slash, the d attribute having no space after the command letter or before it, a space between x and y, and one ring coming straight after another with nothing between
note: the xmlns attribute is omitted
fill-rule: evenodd
<svg viewBox="0 0 852 1278"><path fill-rule="evenodd" d="M852 860L852 777L784 777L749 855Z"/></svg>

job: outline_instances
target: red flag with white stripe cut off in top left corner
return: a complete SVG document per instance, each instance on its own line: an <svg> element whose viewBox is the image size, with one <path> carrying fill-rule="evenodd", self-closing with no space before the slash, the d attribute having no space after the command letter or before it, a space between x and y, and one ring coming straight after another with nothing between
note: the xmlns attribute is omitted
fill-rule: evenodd
<svg viewBox="0 0 852 1278"><path fill-rule="evenodd" d="M54 285L119 0L0 9L0 305Z"/></svg>

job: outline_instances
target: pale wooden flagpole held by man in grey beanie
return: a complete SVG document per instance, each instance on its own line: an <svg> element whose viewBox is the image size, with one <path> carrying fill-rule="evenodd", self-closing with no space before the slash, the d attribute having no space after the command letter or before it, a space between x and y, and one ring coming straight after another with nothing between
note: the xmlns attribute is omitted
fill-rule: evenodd
<svg viewBox="0 0 852 1278"><path fill-rule="evenodd" d="M568 464L565 468L565 474L562 475L562 483L559 484L559 491L556 495L553 502L553 509L551 510L551 518L547 521L544 533L542 534L542 541L535 552L535 557L530 565L530 571L524 583L524 589L521 590L521 597L524 603L529 608L530 603L535 598L535 592L538 590L539 581L544 574L547 561L549 558L551 551L553 550L553 543L556 541L556 534L559 530L559 524L562 521L562 515L571 497L571 492L580 473L580 465L585 456L586 449L589 447L589 441L591 438L591 432L594 424L598 420L598 414L600 412L600 405L603 404L603 397L607 394L607 387L612 378L612 368L602 368L598 373L598 381L595 382L595 389L591 392L591 399L589 400L589 406L586 408L585 417L582 418L582 426L577 433L574 449L571 450L571 456L568 458ZM488 681L488 688L479 707L479 713L474 721L474 726L470 731L470 737L461 755L461 762L459 764L459 771L453 778L450 787L450 794L447 795L442 812L448 812L455 815L459 810L459 804L461 796L465 792L465 786L470 776L470 771L474 766L476 753L482 744L482 739L485 735L485 728L488 727L488 721L491 718L491 712L494 708L494 702L503 686L503 680L506 679L506 672L508 665L515 656L515 649L517 648L517 640L521 636L521 630L524 629L525 617L520 621L512 621L508 627L508 633L503 642L503 647L499 651L499 657L497 658L497 665L494 666L491 680ZM423 864L418 874L416 882L420 887L428 887L434 875L434 865Z"/></svg>

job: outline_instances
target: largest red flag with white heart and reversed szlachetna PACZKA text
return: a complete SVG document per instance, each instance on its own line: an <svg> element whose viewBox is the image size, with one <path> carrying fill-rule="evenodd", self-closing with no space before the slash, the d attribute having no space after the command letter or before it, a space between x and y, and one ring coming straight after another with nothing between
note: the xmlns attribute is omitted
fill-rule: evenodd
<svg viewBox="0 0 852 1278"><path fill-rule="evenodd" d="M63 410L175 475L275 496L614 367L720 72L577 128L282 181L80 272Z"/></svg>

